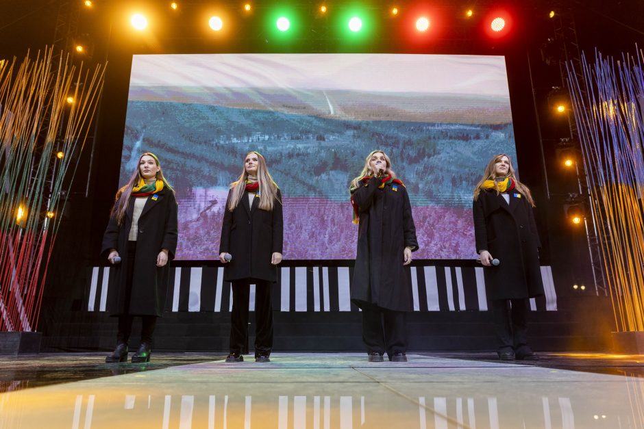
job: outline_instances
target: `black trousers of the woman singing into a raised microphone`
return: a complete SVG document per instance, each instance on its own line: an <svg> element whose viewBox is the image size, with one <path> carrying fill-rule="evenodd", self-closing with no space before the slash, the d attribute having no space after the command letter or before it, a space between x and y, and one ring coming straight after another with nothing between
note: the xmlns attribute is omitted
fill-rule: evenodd
<svg viewBox="0 0 644 429"><path fill-rule="evenodd" d="M364 305L362 307L362 341L367 353L377 352L391 357L394 352L407 351L407 313Z"/></svg>

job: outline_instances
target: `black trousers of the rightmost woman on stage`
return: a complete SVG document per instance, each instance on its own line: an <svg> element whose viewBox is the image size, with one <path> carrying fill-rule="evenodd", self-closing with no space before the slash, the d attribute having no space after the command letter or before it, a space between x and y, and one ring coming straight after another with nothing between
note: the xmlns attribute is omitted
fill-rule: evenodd
<svg viewBox="0 0 644 429"><path fill-rule="evenodd" d="M528 302L528 298L492 301L499 352L528 345Z"/></svg>

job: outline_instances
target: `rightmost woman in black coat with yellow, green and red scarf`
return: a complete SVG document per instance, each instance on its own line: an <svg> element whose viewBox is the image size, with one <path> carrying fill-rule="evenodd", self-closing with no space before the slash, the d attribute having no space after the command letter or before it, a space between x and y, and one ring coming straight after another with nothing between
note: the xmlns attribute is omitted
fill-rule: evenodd
<svg viewBox="0 0 644 429"><path fill-rule="evenodd" d="M503 361L538 359L528 346L526 321L529 298L543 296L532 207L532 194L515 176L510 157L495 155L475 187L472 211Z"/></svg>

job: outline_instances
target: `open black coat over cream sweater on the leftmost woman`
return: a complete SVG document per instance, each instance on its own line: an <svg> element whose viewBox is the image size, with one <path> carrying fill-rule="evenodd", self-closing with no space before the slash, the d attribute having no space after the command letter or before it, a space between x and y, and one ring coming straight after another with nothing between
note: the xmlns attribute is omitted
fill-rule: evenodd
<svg viewBox="0 0 644 429"><path fill-rule="evenodd" d="M154 195L157 198L154 198ZM156 266L161 249L168 249L168 260L175 257L177 250L177 200L174 192L161 190L147 197L143 211L138 218L136 235L136 256L132 276L132 296L126 308L125 285L127 283L127 238L132 227L134 200L130 198L127 212L121 226L110 218L103 235L101 254L108 255L110 249L119 252L121 263L114 265L113 283L108 289L108 312L110 315L156 315L160 316L166 298L169 280L168 264Z"/></svg>

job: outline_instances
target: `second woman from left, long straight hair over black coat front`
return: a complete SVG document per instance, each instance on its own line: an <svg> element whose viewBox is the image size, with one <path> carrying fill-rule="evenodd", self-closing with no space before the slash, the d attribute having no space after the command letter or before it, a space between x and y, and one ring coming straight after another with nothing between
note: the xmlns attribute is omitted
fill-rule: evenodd
<svg viewBox="0 0 644 429"><path fill-rule="evenodd" d="M255 361L269 362L273 349L272 285L282 261L282 195L260 153L248 153L244 170L230 185L221 225L219 260L223 278L232 282L230 354L241 362L248 353L250 285L255 287Z"/></svg>

